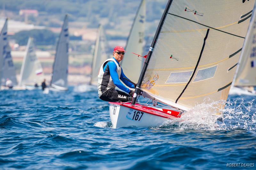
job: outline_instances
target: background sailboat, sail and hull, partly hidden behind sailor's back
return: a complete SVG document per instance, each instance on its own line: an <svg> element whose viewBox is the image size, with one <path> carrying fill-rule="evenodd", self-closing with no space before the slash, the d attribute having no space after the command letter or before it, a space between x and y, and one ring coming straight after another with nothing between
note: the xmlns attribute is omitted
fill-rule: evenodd
<svg viewBox="0 0 256 170"><path fill-rule="evenodd" d="M92 70L91 70L91 80L88 85L77 86L75 91L88 92L88 91L98 91L98 73L100 70L101 63L109 58L108 43L103 26L100 24L98 28L98 33L95 42L95 48L92 58Z"/></svg>

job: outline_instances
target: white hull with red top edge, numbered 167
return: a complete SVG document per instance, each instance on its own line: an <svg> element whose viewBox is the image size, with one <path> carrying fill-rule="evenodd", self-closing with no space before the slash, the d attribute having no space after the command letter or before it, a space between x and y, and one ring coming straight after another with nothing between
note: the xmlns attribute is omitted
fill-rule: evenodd
<svg viewBox="0 0 256 170"><path fill-rule="evenodd" d="M109 103L109 115L112 122L112 128L120 128L127 126L138 127L156 127L164 124L166 121L176 116L170 114L164 115L163 113L157 114L148 113L136 107L126 107L120 103Z"/></svg>

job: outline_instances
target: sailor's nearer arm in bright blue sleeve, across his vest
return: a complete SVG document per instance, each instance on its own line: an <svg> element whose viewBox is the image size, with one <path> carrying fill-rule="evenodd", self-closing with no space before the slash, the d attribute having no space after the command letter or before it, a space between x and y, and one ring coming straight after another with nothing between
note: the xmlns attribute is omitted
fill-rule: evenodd
<svg viewBox="0 0 256 170"><path fill-rule="evenodd" d="M110 72L110 76L114 82L114 84L121 90L123 90L124 92L129 93L131 90L128 89L127 87L125 87L123 85L123 83L119 80L118 78L118 74L116 72L116 64L113 61L108 62L108 67L109 67L109 72Z"/></svg>

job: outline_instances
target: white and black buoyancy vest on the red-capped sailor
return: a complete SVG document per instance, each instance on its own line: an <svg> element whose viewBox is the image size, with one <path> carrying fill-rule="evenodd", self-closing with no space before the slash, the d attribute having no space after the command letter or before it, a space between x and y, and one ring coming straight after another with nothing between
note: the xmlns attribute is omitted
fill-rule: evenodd
<svg viewBox="0 0 256 170"><path fill-rule="evenodd" d="M118 74L118 78L121 77L121 67L118 65L118 63L116 62L116 60L114 58L110 58L107 59L100 67L100 72L98 75L98 94L99 97L102 95L102 93L104 93L104 91L106 91L107 89L110 88L116 88L116 85L114 84L111 76L110 76L110 72L109 74L104 72L104 64L108 61L113 61L116 64L116 72ZM109 80L108 80L109 79ZM104 80L104 82L102 82L102 80ZM103 83L103 84L102 84Z"/></svg>

